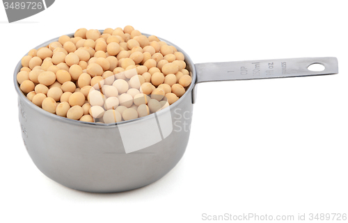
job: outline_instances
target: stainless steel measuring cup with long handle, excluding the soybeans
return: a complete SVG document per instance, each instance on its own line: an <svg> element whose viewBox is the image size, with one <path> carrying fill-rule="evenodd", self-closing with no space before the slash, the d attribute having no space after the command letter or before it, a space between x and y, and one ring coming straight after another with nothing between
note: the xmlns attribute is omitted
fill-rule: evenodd
<svg viewBox="0 0 348 223"><path fill-rule="evenodd" d="M144 34L146 35L146 34ZM73 34L70 34L73 36ZM175 46L171 42L160 39ZM49 40L40 47L45 47ZM19 89L19 123L26 150L50 179L76 190L121 192L141 188L168 173L182 158L189 140L196 84L206 81L269 79L337 74L336 58L293 58L193 64L184 53L192 83L171 106L157 113L117 124L80 122L35 106ZM314 63L321 72L308 70Z"/></svg>

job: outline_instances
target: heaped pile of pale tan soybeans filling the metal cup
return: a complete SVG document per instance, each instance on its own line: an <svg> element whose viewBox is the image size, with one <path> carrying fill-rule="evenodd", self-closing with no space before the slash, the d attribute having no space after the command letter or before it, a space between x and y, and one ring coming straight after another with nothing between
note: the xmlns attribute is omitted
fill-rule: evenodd
<svg viewBox="0 0 348 223"><path fill-rule="evenodd" d="M17 82L49 113L82 122L144 117L182 97L191 84L184 54L132 26L79 28L22 58Z"/></svg>

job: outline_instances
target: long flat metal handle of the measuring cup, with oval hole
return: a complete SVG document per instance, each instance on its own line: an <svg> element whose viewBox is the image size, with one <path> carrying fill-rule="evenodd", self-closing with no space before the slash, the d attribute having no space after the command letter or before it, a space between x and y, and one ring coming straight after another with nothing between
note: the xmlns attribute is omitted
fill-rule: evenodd
<svg viewBox="0 0 348 223"><path fill-rule="evenodd" d="M324 65L325 69L310 71L308 67L313 64ZM195 67L196 83L338 74L338 60L335 57L198 63ZM195 100L196 87L193 90L193 103Z"/></svg>

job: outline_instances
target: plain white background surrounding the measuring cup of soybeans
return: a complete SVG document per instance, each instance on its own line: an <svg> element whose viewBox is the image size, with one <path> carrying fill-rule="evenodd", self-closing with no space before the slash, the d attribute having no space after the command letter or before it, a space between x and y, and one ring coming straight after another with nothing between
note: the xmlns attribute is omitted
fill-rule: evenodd
<svg viewBox="0 0 348 223"><path fill-rule="evenodd" d="M0 6L0 222L348 213L347 17L345 1L57 0L8 24ZM65 188L26 152L13 70L46 40L128 24L177 44L194 63L335 56L340 74L200 84L187 151L164 178L114 194Z"/></svg>

